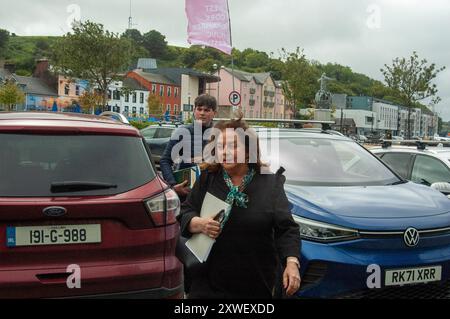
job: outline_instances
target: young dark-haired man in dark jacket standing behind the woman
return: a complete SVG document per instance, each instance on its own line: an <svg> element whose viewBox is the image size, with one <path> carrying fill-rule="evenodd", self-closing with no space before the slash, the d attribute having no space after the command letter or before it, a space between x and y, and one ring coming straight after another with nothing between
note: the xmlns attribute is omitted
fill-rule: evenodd
<svg viewBox="0 0 450 319"><path fill-rule="evenodd" d="M176 129L161 156L160 167L163 177L182 201L189 194L190 188L187 187L187 181L177 184L173 172L196 165L194 159L202 157L203 148L209 140L209 136L204 136L204 133L212 128L216 114L215 97L208 94L199 95L194 102L193 124Z"/></svg>

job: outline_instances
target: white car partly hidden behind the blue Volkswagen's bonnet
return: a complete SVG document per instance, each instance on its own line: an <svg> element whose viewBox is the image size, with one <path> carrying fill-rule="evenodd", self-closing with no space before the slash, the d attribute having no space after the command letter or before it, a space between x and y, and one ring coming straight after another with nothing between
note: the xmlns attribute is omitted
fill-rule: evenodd
<svg viewBox="0 0 450 319"><path fill-rule="evenodd" d="M450 183L450 149L422 148L390 146L377 147L370 151L404 179L426 186L441 182Z"/></svg>

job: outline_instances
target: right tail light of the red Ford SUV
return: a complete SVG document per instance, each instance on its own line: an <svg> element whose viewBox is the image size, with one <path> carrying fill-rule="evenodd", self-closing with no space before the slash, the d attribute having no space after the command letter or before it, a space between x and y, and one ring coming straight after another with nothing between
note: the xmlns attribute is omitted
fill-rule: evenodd
<svg viewBox="0 0 450 319"><path fill-rule="evenodd" d="M177 216L180 214L180 199L173 190L169 189L146 200L145 207L156 226L170 225L177 222Z"/></svg>

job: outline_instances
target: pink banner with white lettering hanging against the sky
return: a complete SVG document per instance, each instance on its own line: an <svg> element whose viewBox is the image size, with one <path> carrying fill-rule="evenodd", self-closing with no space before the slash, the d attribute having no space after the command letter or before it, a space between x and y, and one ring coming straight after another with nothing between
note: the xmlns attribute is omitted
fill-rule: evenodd
<svg viewBox="0 0 450 319"><path fill-rule="evenodd" d="M231 54L227 0L186 0L188 42Z"/></svg>

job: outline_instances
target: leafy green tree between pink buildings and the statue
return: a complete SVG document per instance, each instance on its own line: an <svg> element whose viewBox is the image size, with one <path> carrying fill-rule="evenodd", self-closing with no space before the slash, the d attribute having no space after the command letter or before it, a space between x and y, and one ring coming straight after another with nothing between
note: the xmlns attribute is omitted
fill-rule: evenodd
<svg viewBox="0 0 450 319"><path fill-rule="evenodd" d="M311 62L306 59L303 50L294 52L282 49L285 61L283 70L283 93L290 105L296 109L314 103L314 96L319 89L317 80L320 74Z"/></svg>

